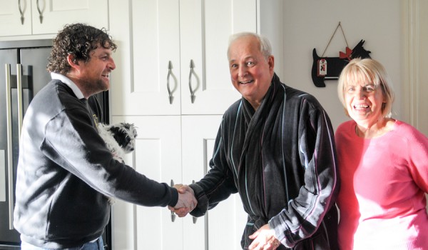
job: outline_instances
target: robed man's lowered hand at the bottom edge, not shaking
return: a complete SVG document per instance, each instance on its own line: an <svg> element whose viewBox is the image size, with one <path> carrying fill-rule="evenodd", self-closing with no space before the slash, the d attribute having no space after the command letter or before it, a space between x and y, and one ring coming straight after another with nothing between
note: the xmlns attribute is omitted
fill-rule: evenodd
<svg viewBox="0 0 428 250"><path fill-rule="evenodd" d="M275 250L280 246L280 241L275 238L275 231L270 229L269 224L260 227L258 231L250 235L254 241L248 246L250 250Z"/></svg>

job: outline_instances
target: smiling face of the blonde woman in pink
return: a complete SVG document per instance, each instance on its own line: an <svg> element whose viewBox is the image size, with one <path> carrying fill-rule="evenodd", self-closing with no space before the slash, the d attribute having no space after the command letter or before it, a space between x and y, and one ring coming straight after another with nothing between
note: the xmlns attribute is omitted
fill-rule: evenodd
<svg viewBox="0 0 428 250"><path fill-rule="evenodd" d="M344 99L347 113L360 126L370 127L383 118L385 98L382 86L367 78L347 84Z"/></svg>

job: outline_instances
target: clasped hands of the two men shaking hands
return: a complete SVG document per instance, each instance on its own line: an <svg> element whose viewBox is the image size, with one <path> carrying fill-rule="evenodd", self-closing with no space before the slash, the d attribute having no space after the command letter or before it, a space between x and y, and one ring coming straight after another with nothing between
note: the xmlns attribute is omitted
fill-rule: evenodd
<svg viewBox="0 0 428 250"><path fill-rule="evenodd" d="M168 209L177 214L178 217L184 217L198 205L198 201L195 199L195 192L190 186L183 184L175 184L174 188L178 190L178 201L174 207L168 206Z"/></svg>

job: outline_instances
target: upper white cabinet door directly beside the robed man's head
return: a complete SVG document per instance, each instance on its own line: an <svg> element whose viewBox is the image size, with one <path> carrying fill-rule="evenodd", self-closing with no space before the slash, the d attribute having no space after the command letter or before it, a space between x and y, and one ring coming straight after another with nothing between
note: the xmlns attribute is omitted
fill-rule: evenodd
<svg viewBox="0 0 428 250"><path fill-rule="evenodd" d="M228 39L255 32L256 11L255 0L180 1L182 114L223 114L240 99L230 81Z"/></svg>

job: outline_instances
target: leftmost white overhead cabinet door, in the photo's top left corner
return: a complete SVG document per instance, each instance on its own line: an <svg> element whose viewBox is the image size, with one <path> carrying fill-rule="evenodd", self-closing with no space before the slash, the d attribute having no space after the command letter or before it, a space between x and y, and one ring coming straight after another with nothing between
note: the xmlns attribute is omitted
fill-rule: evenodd
<svg viewBox="0 0 428 250"><path fill-rule="evenodd" d="M31 34L30 0L0 0L0 6L0 36Z"/></svg>

